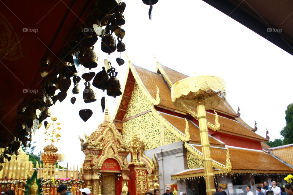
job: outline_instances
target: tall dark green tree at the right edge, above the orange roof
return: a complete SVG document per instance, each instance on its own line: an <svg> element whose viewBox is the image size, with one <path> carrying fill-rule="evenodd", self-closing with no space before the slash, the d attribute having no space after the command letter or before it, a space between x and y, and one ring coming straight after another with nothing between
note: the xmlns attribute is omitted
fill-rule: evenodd
<svg viewBox="0 0 293 195"><path fill-rule="evenodd" d="M293 144L293 103L287 106L285 113L286 126L280 132L284 137L283 145Z"/></svg>

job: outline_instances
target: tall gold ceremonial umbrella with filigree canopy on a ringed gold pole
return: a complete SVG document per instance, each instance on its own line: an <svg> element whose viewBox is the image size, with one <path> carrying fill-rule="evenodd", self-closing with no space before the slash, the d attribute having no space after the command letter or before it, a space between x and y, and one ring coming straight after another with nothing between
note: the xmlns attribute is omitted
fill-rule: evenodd
<svg viewBox="0 0 293 195"><path fill-rule="evenodd" d="M215 193L214 173L212 167L211 149L208 137L206 108L216 107L221 99L225 99L226 86L223 79L216 76L188 77L176 82L171 88L174 105L189 110L197 106L198 122L201 135L201 148L204 162L204 177L207 195Z"/></svg>

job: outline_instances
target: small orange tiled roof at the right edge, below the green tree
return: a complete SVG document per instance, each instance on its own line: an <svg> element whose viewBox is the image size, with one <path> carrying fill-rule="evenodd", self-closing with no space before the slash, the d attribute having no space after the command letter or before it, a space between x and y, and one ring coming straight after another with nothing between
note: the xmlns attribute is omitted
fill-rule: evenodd
<svg viewBox="0 0 293 195"><path fill-rule="evenodd" d="M288 164L293 166L293 144L288 144L280 147L269 148L269 150L282 159L283 161L287 162Z"/></svg>

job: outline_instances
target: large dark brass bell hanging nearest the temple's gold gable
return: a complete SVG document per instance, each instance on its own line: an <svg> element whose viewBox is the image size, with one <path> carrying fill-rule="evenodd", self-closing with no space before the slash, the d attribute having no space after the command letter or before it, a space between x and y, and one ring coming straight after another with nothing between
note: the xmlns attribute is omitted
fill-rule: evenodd
<svg viewBox="0 0 293 195"><path fill-rule="evenodd" d="M107 95L113 96L114 98L116 96L119 96L122 94L121 92L121 85L119 80L117 79L117 72L115 72L115 68L111 68L110 70L110 79L107 81Z"/></svg>

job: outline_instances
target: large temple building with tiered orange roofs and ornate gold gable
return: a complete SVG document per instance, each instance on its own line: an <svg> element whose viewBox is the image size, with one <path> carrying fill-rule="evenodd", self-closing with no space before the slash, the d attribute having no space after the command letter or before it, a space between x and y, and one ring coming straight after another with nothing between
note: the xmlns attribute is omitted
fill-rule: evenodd
<svg viewBox="0 0 293 195"><path fill-rule="evenodd" d="M196 106L186 112L171 100L171 87L187 77L159 62L154 72L129 62L113 119L126 143L136 134L145 146L145 155L151 158L155 154L161 193L165 185L172 184L178 192L205 194ZM284 181L292 171L292 165L263 148L267 140L256 134L226 100L208 108L206 115L215 186L239 193L245 183L255 191L255 184L269 179Z"/></svg>

